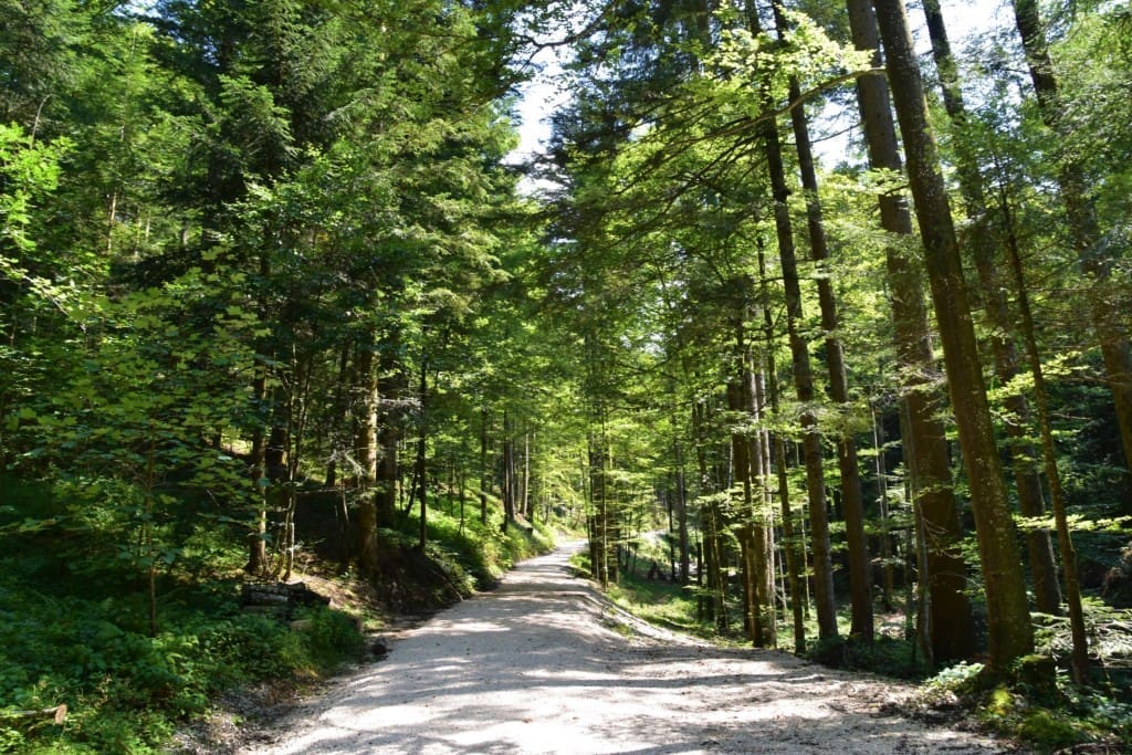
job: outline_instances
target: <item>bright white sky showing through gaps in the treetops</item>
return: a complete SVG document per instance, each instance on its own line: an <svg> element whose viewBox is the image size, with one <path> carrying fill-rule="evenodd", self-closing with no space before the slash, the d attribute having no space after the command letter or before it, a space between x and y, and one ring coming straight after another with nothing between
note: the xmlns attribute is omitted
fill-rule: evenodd
<svg viewBox="0 0 1132 755"><path fill-rule="evenodd" d="M1010 5L1005 0L941 0L941 5L947 24L947 34L957 52L962 50L972 36L1013 23ZM924 12L918 3L908 8L908 16L919 29L914 34L921 52L926 54L931 48L927 32L921 28ZM559 54L563 52L559 51ZM542 71L520 89L521 98L516 109L520 119L520 144L512 153L512 160L515 162L529 158L546 146L550 138L550 114L569 101L569 93L560 91L555 81L555 77L560 72L555 53L543 51L535 62L542 66Z"/></svg>

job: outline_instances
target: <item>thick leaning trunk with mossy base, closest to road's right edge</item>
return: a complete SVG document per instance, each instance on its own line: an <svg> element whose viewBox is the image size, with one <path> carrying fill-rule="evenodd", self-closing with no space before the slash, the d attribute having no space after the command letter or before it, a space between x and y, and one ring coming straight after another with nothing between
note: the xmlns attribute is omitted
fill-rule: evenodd
<svg viewBox="0 0 1132 755"><path fill-rule="evenodd" d="M971 489L987 600L988 666L1001 672L1034 651L1017 531L1002 477L963 271L940 172L919 63L902 0L874 0L908 157L925 266L943 341L951 404Z"/></svg>

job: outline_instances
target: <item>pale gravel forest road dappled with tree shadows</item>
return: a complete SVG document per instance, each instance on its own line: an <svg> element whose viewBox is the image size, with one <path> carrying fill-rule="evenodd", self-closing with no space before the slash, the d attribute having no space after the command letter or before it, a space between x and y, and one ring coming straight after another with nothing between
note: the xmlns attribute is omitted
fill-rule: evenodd
<svg viewBox="0 0 1132 755"><path fill-rule="evenodd" d="M438 614L247 753L988 753L883 714L909 688L655 629L572 576L572 543Z"/></svg>

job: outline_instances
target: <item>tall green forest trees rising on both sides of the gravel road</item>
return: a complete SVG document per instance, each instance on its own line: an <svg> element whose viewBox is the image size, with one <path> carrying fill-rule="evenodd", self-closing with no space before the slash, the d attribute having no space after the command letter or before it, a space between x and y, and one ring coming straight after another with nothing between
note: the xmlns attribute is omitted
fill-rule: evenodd
<svg viewBox="0 0 1132 755"><path fill-rule="evenodd" d="M555 525L757 647L1126 686L1132 12L988 5L0 0L0 637ZM2 711L97 676L27 652Z"/></svg>

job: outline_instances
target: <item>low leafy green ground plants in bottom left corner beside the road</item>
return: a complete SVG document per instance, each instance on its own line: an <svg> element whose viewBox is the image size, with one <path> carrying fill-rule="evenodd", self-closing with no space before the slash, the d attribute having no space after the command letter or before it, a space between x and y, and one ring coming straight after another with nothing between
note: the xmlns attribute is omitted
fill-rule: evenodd
<svg viewBox="0 0 1132 755"><path fill-rule="evenodd" d="M122 628L130 624L128 608L111 600L0 590L16 609L0 625L0 710L67 703L70 718L58 741L94 752L158 749L178 721L207 710L223 689L326 672L358 658L362 646L355 623L340 611L314 610L292 630L240 614L232 592L225 614L180 615L148 637ZM5 736L16 741L17 735ZM51 741L59 732L27 736Z"/></svg>

